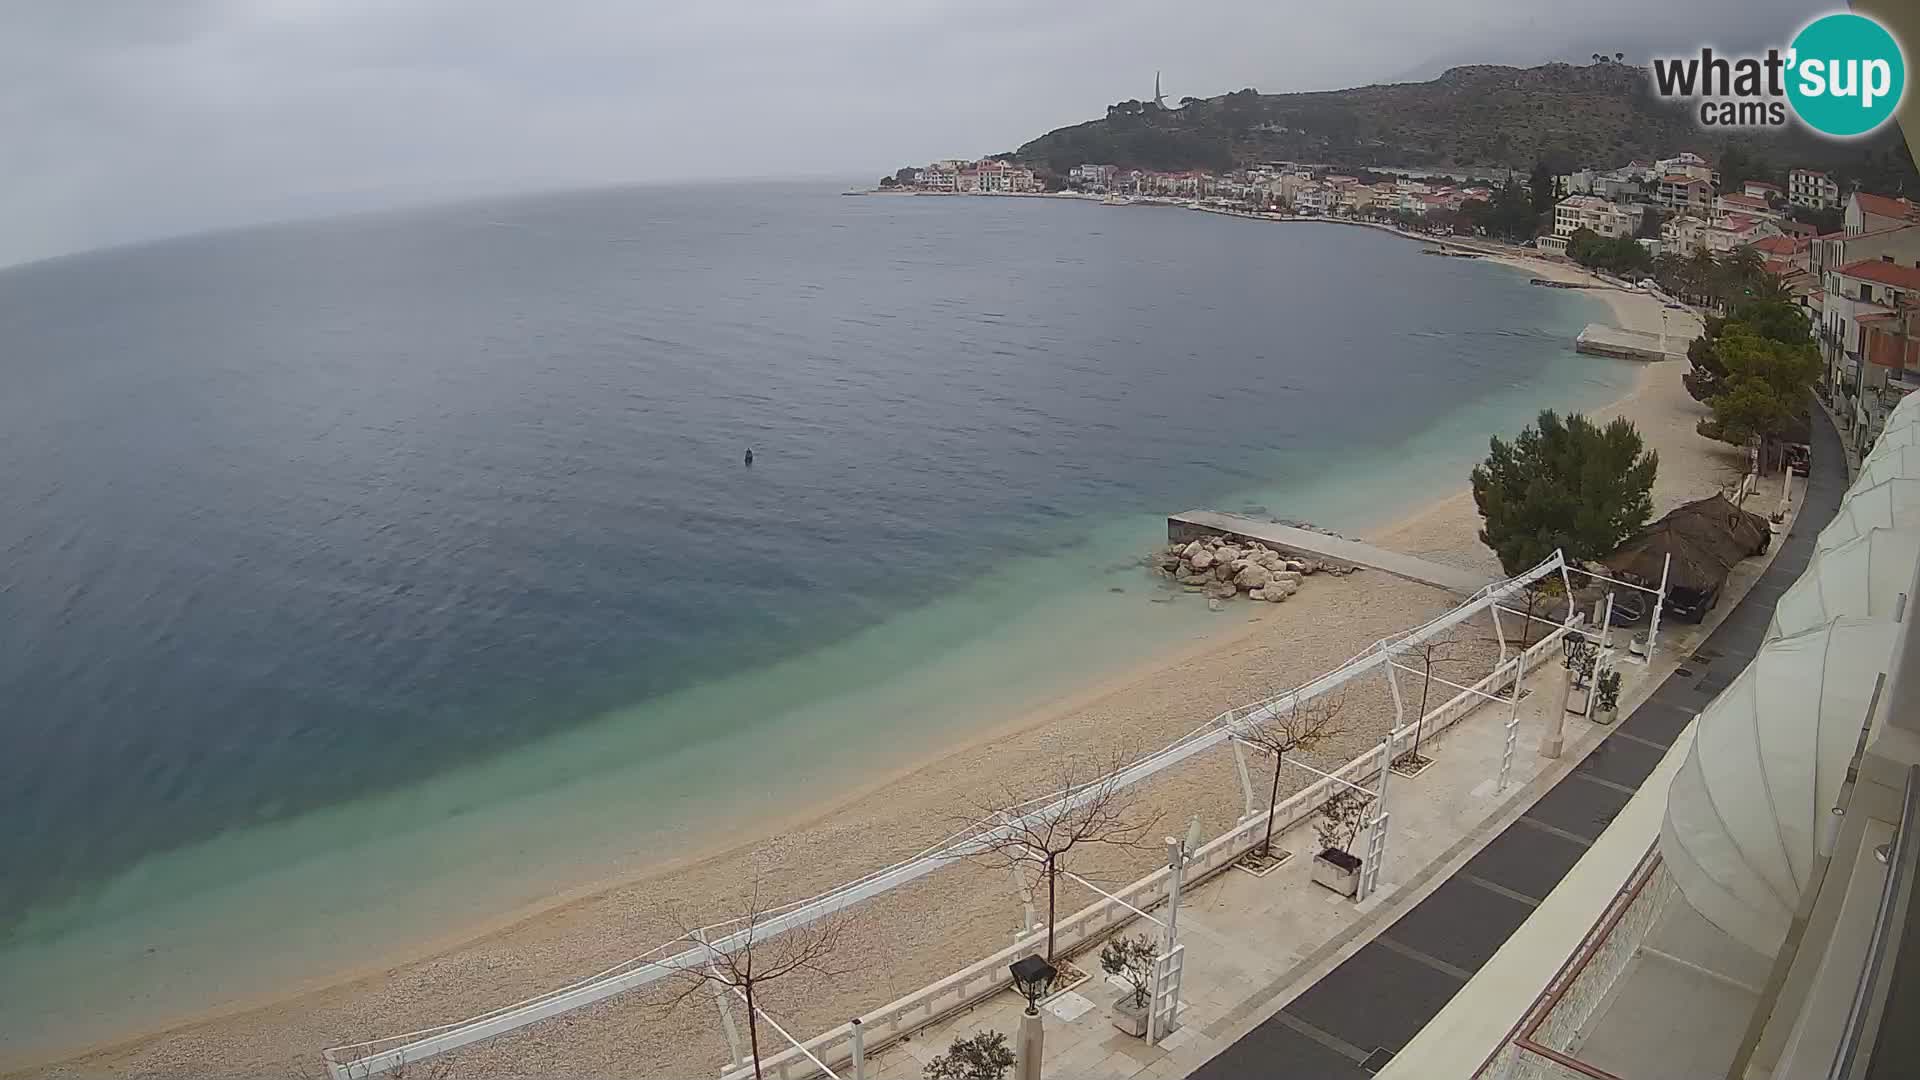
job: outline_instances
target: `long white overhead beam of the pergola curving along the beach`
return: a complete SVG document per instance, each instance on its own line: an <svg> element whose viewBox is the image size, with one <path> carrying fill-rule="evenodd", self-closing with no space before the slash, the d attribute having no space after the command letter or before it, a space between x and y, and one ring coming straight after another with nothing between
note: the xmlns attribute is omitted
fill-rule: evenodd
<svg viewBox="0 0 1920 1080"><path fill-rule="evenodd" d="M1010 836L1012 828L1004 824L1004 819L1010 815L1023 821L1027 817L1039 815L1041 811L1056 811L1064 803L1079 803L1091 799L1104 784L1117 784L1117 786L1139 784L1148 776L1154 776L1156 773L1173 769L1175 765L1181 765L1198 753L1204 753L1223 742L1229 742L1233 738L1236 721L1244 721L1246 717L1260 713L1271 715L1275 709L1283 707L1283 703L1290 707L1296 701L1319 698L1321 694L1327 694L1338 686L1344 686L1346 682L1352 682L1354 678L1367 675L1375 667L1388 665L1394 653L1404 651L1405 648L1419 644L1434 634L1442 634L1448 628L1457 626L1467 619L1478 615L1480 611L1490 611L1490 609L1494 611L1496 632L1498 632L1498 609L1501 605L1500 601L1530 586L1532 582L1551 577L1555 573L1561 575L1563 580L1567 580L1567 563L1559 552L1548 555L1538 565L1530 567L1521 575L1515 575L1505 580L1496 580L1476 590L1461 605L1421 626L1407 630L1405 634L1400 634L1396 638L1377 640L1375 644L1367 646L1365 650L1350 657L1344 665L1340 665L1334 671L1329 671L1317 678L1311 678L1265 701L1258 701L1254 705L1221 713L1210 719L1208 723L1200 724L1192 732L1185 734L1183 738L1175 740L1173 744L1165 746L1164 749L1154 751L1135 761L1133 765L1119 769L1110 776L1100 776L1089 780L1079 788L1054 792L1050 796L1041 796L1037 799L1031 799L1023 805L1010 807L1002 811L1002 815L996 815L1000 821L981 821L970 828L964 828L948 836L947 840L941 840L933 847L927 847L925 851L910 859L879 869L872 874L847 882L826 894L772 909L760 922L755 922L751 926L741 926L739 922L716 922L712 926L707 926L701 930L705 938L697 938L697 940L710 938L710 942L705 945L670 953L668 949L672 949L680 942L678 940L666 942L662 945L649 949L647 953L620 961L618 965L612 965L597 974L555 988L547 994L538 994L534 997L526 997L522 1001L492 1009L488 1013L470 1017L467 1020L457 1020L451 1024L440 1024L432 1028L420 1028L359 1043L328 1047L321 1055L326 1065L326 1072L330 1080L369 1080L371 1076L390 1072L396 1067L417 1065L420 1061L438 1057L442 1053L459 1049L463 1045L472 1045L476 1042L484 1042L493 1036L501 1036L551 1017L561 1017L574 1009L584 1009L588 1005L605 1001L618 994L649 986L674 972L703 965L710 955L708 949L718 949L718 951L737 949L751 936L766 938L780 934L783 930L806 926L816 919L824 919L828 915L845 911L866 899L893 892L900 886L906 886L910 882L916 882L931 874L933 871L939 871L941 867L960 863L970 855L975 855L981 849L981 846L989 840ZM1501 638L1501 653L1505 653L1505 638ZM1519 692L1515 692L1515 700L1517 698ZM1400 717L1396 713L1396 723L1398 719ZM1386 744L1388 746L1386 749L1382 749L1382 753L1390 753L1392 738L1388 738ZM1386 769L1382 763L1382 773Z"/></svg>

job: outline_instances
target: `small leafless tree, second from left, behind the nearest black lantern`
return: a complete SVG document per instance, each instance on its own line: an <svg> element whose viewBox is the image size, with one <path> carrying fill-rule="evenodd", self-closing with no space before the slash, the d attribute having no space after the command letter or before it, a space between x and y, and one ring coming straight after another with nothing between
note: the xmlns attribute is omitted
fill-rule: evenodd
<svg viewBox="0 0 1920 1080"><path fill-rule="evenodd" d="M977 807L975 821L983 822L983 832L968 857L1008 871L1033 869L1046 882L1048 963L1054 959L1056 882L1068 855L1083 846L1140 847L1160 821L1158 813L1142 817L1135 792L1119 782L1129 761L1127 753L1104 759L1068 755L1050 773L1052 794L1020 799L1004 788L998 807Z"/></svg>

